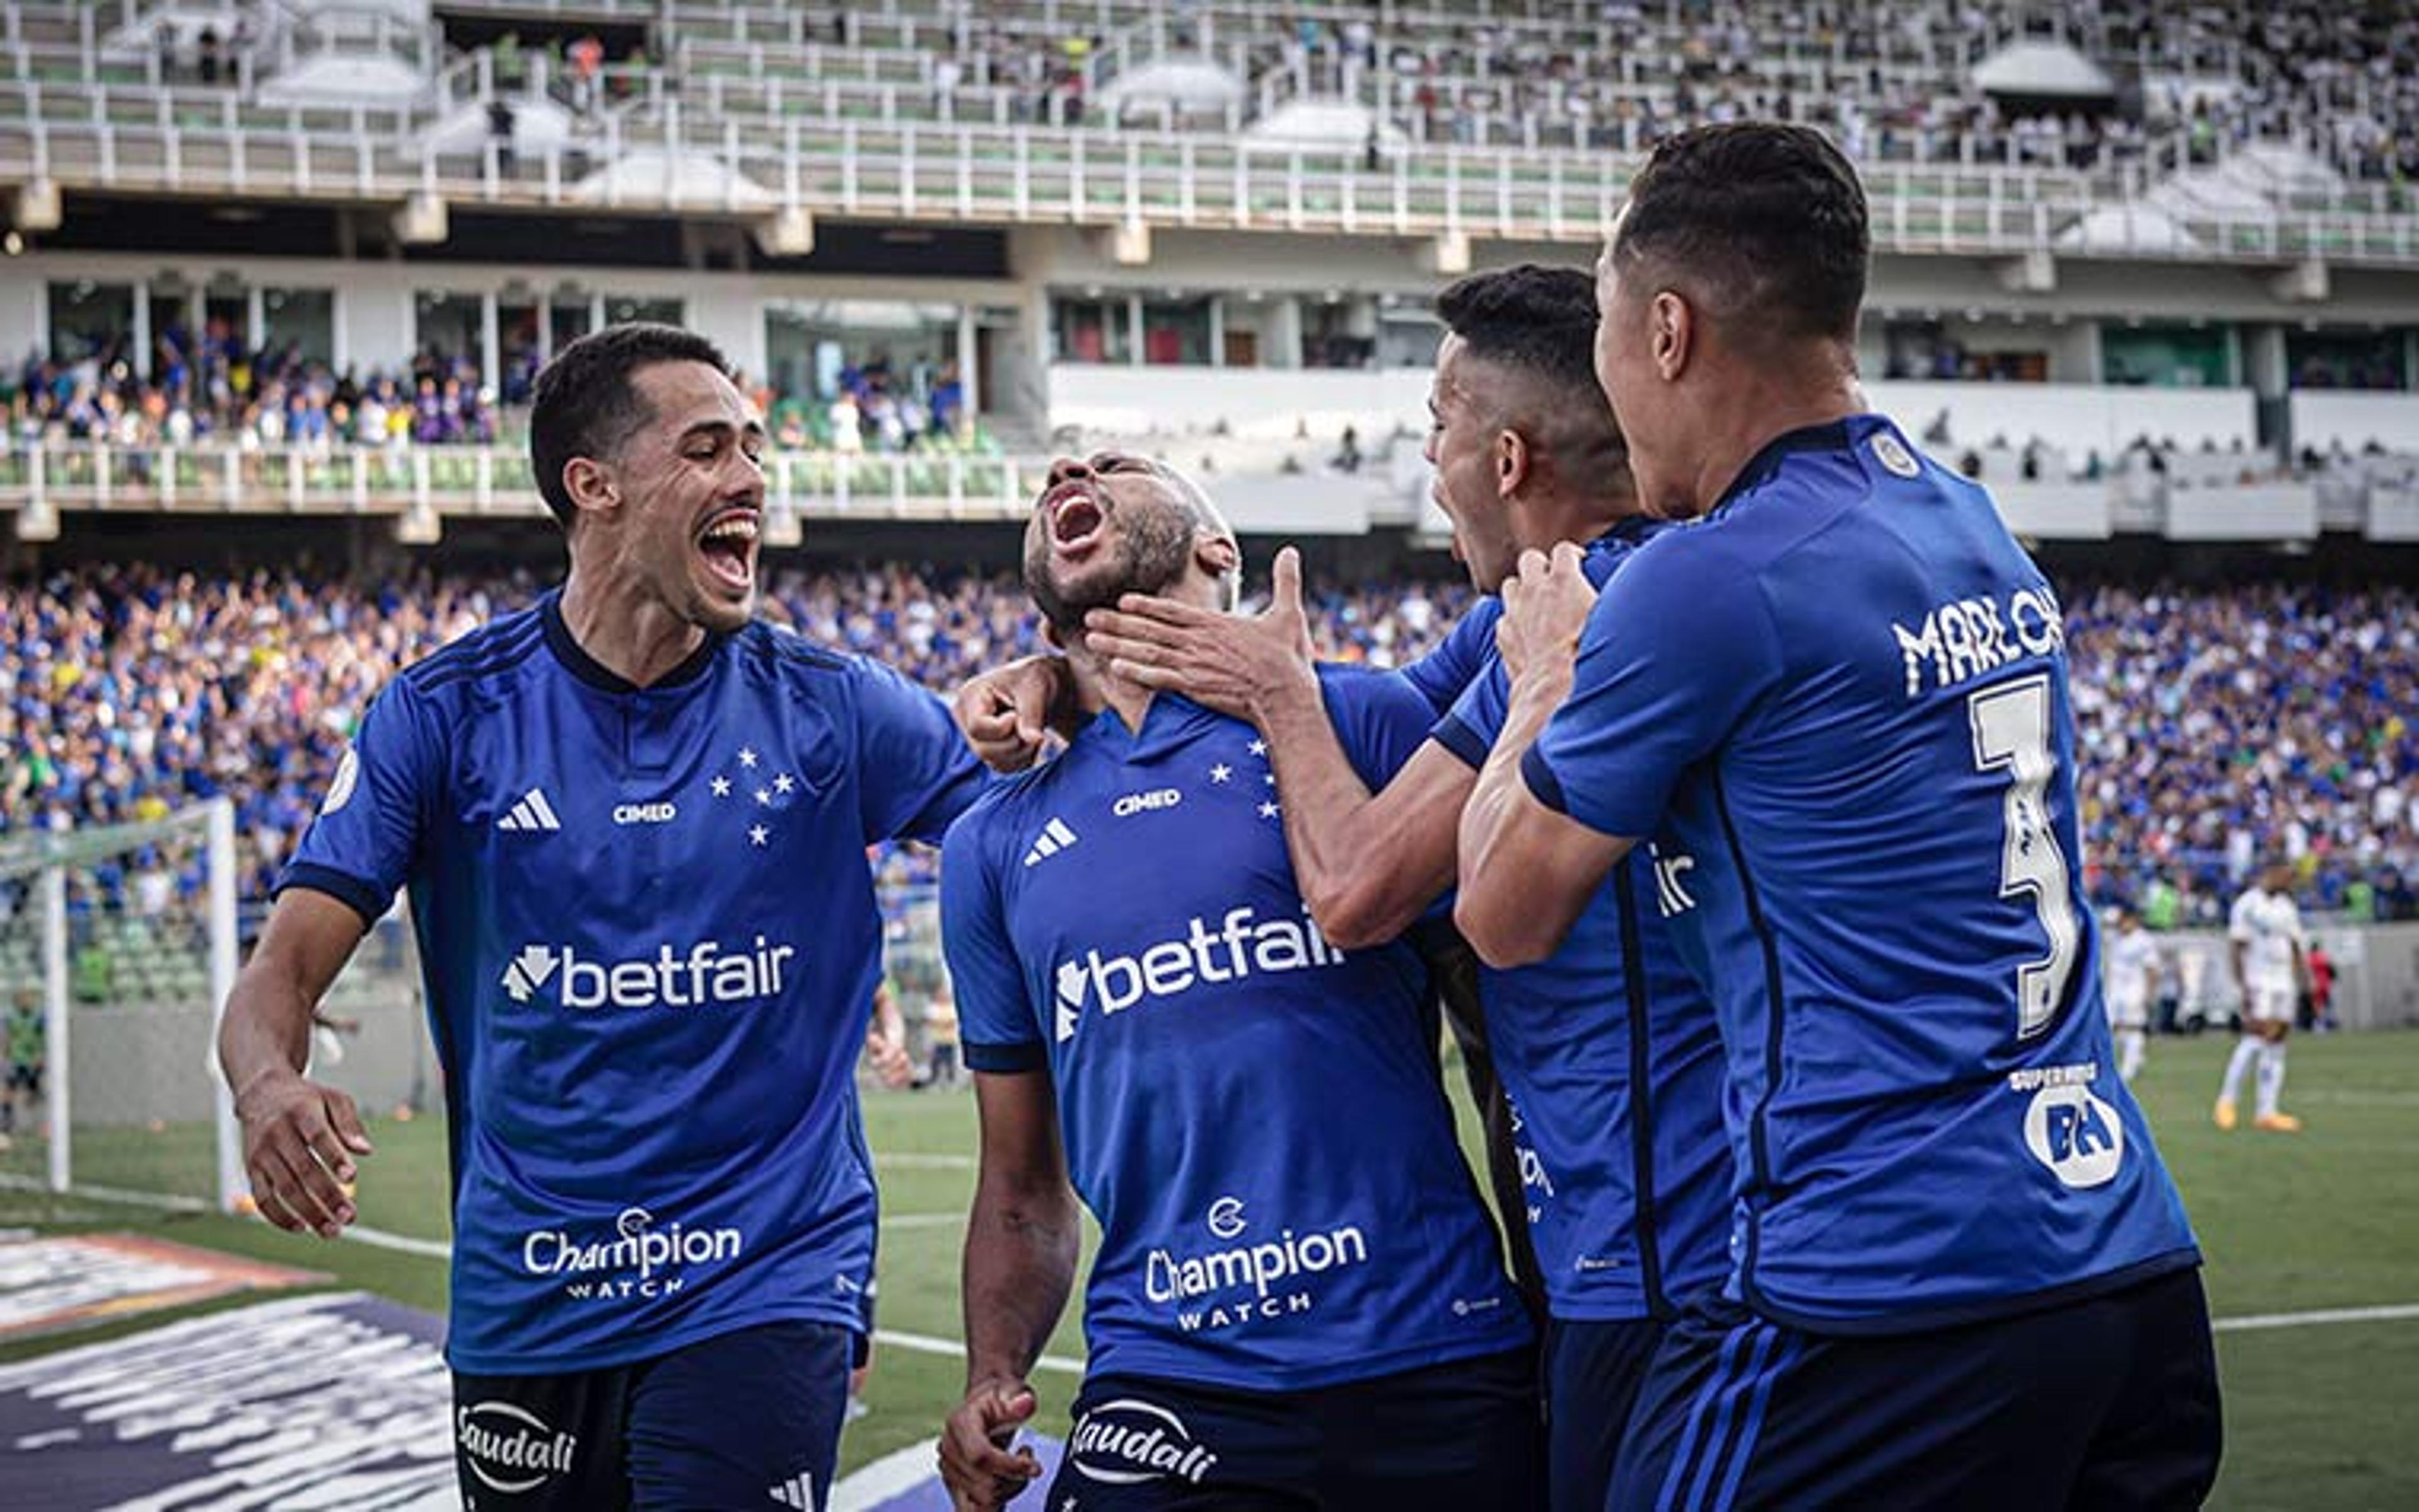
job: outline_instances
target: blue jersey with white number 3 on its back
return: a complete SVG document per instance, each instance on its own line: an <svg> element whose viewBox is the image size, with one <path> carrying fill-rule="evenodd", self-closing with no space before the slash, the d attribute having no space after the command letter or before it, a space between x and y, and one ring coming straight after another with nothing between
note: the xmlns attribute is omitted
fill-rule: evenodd
<svg viewBox="0 0 2419 1512"><path fill-rule="evenodd" d="M1538 801L1655 837L1730 1060L1734 1297L1928 1328L2196 1263L2109 1060L2059 602L1880 416L1623 566Z"/></svg>

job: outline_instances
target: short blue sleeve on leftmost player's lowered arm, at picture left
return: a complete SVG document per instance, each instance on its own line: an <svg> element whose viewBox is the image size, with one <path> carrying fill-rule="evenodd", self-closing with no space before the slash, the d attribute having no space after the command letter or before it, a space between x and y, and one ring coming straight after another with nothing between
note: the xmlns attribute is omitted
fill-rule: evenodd
<svg viewBox="0 0 2419 1512"><path fill-rule="evenodd" d="M435 810L443 760L423 719L421 694L397 677L370 704L319 815L302 832L276 890L327 893L375 924L411 878L426 815Z"/></svg>

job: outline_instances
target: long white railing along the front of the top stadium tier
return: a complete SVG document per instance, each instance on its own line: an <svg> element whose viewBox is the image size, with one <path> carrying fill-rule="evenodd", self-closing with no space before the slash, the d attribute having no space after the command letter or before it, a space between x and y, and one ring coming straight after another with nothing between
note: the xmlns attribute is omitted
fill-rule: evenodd
<svg viewBox="0 0 2419 1512"><path fill-rule="evenodd" d="M254 133L114 121L0 123L0 179L75 189L278 194L399 201L433 194L518 206L607 206L762 215L781 206L960 225L1079 223L1345 235L1480 235L1594 242L1613 223L1630 162L1604 152L1536 155L1447 148L1369 169L1357 152L1255 150L1200 135L989 126L859 126L791 121L779 145L735 123L692 133L607 119L595 140L520 152L501 172L493 143L440 155L370 133ZM634 181L605 169L631 150L668 155ZM689 172L694 157L726 174ZM2005 256L2056 249L2109 201L2027 194L2032 169L1867 169L1875 247L1906 254ZM2141 235L2095 254L2163 261L2419 264L2419 218L2346 213L2146 215ZM2170 235L2170 225L2184 237Z"/></svg>

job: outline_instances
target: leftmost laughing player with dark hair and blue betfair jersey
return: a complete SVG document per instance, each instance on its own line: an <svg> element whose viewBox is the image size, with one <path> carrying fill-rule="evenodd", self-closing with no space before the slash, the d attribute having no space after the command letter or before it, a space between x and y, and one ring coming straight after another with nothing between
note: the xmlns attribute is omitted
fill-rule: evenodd
<svg viewBox="0 0 2419 1512"><path fill-rule="evenodd" d="M566 346L530 416L571 573L397 675L227 1002L264 1217L336 1236L370 1154L310 1009L411 888L450 1089L474 1505L822 1507L866 1331L866 847L980 791L948 709L752 619L764 433L670 327Z"/></svg>

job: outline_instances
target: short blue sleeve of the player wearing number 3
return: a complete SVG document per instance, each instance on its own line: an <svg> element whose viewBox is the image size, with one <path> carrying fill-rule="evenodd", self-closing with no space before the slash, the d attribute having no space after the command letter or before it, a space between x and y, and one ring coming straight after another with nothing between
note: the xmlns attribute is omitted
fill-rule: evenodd
<svg viewBox="0 0 2419 1512"><path fill-rule="evenodd" d="M1708 537L1659 537L1597 598L1570 697L1522 777L1538 803L1592 830L1652 835L1681 774L1720 750L1778 677L1756 581Z"/></svg>

